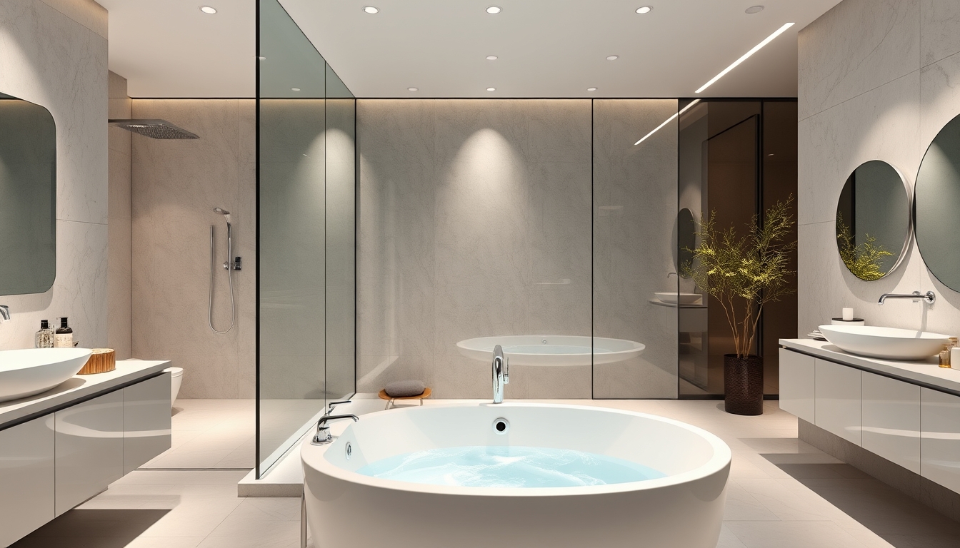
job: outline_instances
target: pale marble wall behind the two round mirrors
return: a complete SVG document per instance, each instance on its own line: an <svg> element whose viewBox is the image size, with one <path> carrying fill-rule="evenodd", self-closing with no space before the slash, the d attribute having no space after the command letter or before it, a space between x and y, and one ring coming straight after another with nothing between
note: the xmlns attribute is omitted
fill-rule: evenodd
<svg viewBox="0 0 960 548"><path fill-rule="evenodd" d="M944 333L960 330L960 294L929 274L915 243L897 271L868 282L843 266L833 228L836 199L853 167L868 159L889 161L912 187L930 141L960 114L958 12L955 2L939 0L900 2L896 7L889 2L845 0L801 32L801 59L806 60L799 72L801 106L827 105L818 91L825 82L844 83L838 88L860 92L834 94L836 105L819 112L808 108L799 126L800 335L827 322L842 307L853 307L868 324ZM846 28L853 20L861 32ZM848 60L813 62L826 55L831 44L836 51L879 55L887 51L888 41L891 46L899 43L901 53L915 54L918 64L906 63L897 52L889 52L883 66L869 71L871 61L862 55L862 66ZM913 44L920 49L915 51ZM931 289L938 297L933 306L906 300L876 305L883 293Z"/></svg>

